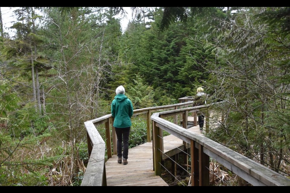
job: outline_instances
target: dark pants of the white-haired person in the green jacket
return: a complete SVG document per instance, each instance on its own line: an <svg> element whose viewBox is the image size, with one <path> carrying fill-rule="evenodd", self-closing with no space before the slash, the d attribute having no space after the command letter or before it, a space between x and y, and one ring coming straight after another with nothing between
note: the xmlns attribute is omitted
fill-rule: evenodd
<svg viewBox="0 0 290 193"><path fill-rule="evenodd" d="M117 128L115 127L117 135L117 156L128 159L128 150L129 150L129 134L130 127L126 128ZM123 153L122 153L122 141L123 141Z"/></svg>

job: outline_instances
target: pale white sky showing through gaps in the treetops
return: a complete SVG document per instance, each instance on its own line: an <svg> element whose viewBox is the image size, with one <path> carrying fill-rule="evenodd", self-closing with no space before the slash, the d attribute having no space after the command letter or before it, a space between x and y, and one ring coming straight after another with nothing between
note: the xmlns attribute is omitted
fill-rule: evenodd
<svg viewBox="0 0 290 193"><path fill-rule="evenodd" d="M126 17L122 17L121 19L121 27L122 27L122 31L124 32L127 28L127 24L129 23L129 20L132 21L132 14L131 14L130 7L123 7L123 8L128 13ZM9 34L14 34L13 31L9 29L9 27L11 27L12 25L11 22L15 21L13 9L11 9L10 7L1 7L1 13L2 13L2 22L3 22L4 32L8 32ZM121 18L121 16L118 16L118 17Z"/></svg>

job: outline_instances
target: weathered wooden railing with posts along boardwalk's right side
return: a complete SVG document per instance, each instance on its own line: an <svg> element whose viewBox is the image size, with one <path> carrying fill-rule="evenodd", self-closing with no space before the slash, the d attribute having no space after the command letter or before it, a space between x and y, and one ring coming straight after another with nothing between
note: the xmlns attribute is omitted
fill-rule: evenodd
<svg viewBox="0 0 290 193"><path fill-rule="evenodd" d="M206 107L208 105L205 105ZM201 106L199 106L201 107ZM178 113L184 110L193 111L196 107L190 107L182 110L166 111L161 113L154 113L151 116L153 121L153 157L155 174L161 176L161 166L157 160L161 159L162 140L157 140L157 136L162 138L159 129L169 132L170 134L182 139L190 144L192 152L192 185L209 185L209 157L218 161L223 166L230 169L232 172L240 176L247 182L256 186L290 186L290 179L285 176L257 163L240 153L237 153L209 138L196 134L192 131L173 124L165 119L160 118L164 114ZM195 165L198 165L196 167Z"/></svg>

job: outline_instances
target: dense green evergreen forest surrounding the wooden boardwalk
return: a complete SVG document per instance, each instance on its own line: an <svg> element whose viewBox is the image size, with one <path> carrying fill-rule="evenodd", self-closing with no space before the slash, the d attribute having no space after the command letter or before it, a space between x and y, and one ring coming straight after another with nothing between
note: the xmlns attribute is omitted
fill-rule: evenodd
<svg viewBox="0 0 290 193"><path fill-rule="evenodd" d="M290 7L131 9L123 32L122 7L19 7L13 35L0 10L0 185L81 185L119 85L134 109L203 87L224 101L207 137L290 178Z"/></svg>

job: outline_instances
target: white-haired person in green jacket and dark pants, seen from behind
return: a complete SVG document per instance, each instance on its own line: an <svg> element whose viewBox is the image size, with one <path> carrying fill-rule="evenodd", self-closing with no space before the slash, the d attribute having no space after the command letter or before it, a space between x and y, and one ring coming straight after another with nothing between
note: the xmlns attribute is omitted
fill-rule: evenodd
<svg viewBox="0 0 290 193"><path fill-rule="evenodd" d="M113 126L117 135L117 156L118 163L126 165L128 163L128 150L129 150L129 134L132 126L131 117L133 115L133 104L130 99L125 95L123 86L116 89L116 96L111 104L111 114L114 117ZM122 153L123 142L123 153Z"/></svg>

